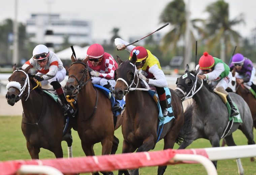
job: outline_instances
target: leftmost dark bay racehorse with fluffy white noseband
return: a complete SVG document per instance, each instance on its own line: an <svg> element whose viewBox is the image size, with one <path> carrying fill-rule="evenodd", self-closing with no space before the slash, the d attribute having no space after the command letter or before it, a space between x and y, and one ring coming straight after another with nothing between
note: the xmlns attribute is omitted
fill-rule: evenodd
<svg viewBox="0 0 256 175"><path fill-rule="evenodd" d="M40 148L48 149L56 158L63 157L61 141L65 140L69 151L72 151L71 134L63 136L64 114L59 105L40 89L33 89L36 84L29 78L28 71L13 67L8 78L9 89L6 94L7 103L13 106L21 99L23 117L21 129L27 140L27 148L32 159L39 159ZM70 119L67 131L70 131L74 119ZM69 152L69 157L72 152Z"/></svg>

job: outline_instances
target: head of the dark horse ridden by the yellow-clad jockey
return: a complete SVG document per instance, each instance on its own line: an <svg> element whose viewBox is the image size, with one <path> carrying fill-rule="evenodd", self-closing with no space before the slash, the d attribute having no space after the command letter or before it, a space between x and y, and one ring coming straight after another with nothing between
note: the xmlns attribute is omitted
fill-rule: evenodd
<svg viewBox="0 0 256 175"><path fill-rule="evenodd" d="M115 80L117 81L117 83L114 89L114 93L115 98L118 100L123 99L123 96L128 94L129 89L133 84L137 85L138 75L137 68L135 66L136 60L137 56L135 53L133 53L131 60L122 61L117 56L117 61L120 64L120 66L117 70L115 70ZM135 80L136 77L137 81Z"/></svg>

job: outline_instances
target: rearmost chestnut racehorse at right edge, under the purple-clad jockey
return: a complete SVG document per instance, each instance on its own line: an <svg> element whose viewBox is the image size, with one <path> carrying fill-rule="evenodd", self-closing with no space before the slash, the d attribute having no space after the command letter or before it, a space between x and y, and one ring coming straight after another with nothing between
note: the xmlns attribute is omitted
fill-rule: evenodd
<svg viewBox="0 0 256 175"><path fill-rule="evenodd" d="M251 114L252 114L252 118L253 118L253 126L256 129L256 108L255 108L256 99L255 99L255 96L251 93L251 91L248 88L246 88L246 86L243 83L239 83L239 84L236 83L235 76L232 77L230 86L232 86L232 87L228 88L227 91L234 92L234 93L240 95L248 104Z"/></svg>

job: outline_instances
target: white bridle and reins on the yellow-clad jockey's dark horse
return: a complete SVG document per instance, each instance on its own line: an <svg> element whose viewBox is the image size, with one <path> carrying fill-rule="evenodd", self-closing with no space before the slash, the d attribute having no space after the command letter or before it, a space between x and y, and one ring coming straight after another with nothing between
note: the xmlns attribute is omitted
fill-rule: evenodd
<svg viewBox="0 0 256 175"><path fill-rule="evenodd" d="M127 86L127 89L125 90L124 96L126 96L130 91L134 91L134 90L140 90L140 91L148 91L149 90L148 83L145 80L142 80L142 79L141 80L144 81L144 83L146 84L147 88L137 88L138 82L139 82L138 70L137 70L135 64L133 64L131 62L130 62L130 64L134 67L134 77L133 77L133 80L131 80L131 84L128 85L127 81L125 79L123 79L123 78L118 78L117 79L117 81L118 80L123 81L125 83L125 85ZM135 81L134 81L135 77L137 77L137 83L135 83ZM133 84L136 85L135 88L131 88L131 86Z"/></svg>

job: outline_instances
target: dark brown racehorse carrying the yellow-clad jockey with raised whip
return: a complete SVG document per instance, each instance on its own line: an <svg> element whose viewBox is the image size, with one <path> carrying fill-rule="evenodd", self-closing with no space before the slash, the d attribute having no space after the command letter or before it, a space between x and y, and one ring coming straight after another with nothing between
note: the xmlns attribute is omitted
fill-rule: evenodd
<svg viewBox="0 0 256 175"><path fill-rule="evenodd" d="M135 62L136 54L133 54L132 60L124 62L117 57L120 66L115 71L117 80L114 93L115 98L120 100L126 95L126 107L124 111L124 119L122 122L122 133L124 137L122 153L149 151L154 149L157 142L158 127L158 107L153 98L146 91L140 91L142 88L138 78ZM137 89L137 90L135 90ZM170 89L171 105L175 118L167 122L163 126L160 139L164 139L164 149L173 148L174 143L180 143L185 137L192 123L184 123L184 119L192 116L192 108L190 111L183 112L182 101L178 94ZM181 129L187 129L182 130ZM163 174L167 166L159 166L158 174ZM129 175L127 170L119 170L118 174ZM133 174L139 174L139 170L134 170Z"/></svg>

